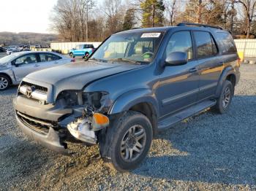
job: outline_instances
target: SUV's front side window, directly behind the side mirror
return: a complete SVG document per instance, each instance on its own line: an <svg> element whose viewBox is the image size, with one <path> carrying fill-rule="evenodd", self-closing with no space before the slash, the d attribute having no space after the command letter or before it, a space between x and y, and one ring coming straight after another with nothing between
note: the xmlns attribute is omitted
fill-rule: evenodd
<svg viewBox="0 0 256 191"><path fill-rule="evenodd" d="M166 47L166 56L171 52L185 52L187 58L193 58L192 40L189 31L181 31L173 34Z"/></svg>

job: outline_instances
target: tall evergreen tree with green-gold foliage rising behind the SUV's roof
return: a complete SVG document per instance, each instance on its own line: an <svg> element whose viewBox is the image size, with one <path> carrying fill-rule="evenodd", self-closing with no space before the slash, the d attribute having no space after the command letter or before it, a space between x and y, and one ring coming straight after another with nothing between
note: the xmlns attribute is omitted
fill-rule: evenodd
<svg viewBox="0 0 256 191"><path fill-rule="evenodd" d="M162 0L145 0L140 8L143 11L143 27L163 26L165 5Z"/></svg>

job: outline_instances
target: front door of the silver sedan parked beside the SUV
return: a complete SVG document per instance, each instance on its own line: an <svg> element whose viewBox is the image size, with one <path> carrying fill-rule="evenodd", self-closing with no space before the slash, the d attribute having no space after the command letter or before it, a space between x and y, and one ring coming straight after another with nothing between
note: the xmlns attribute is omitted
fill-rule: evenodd
<svg viewBox="0 0 256 191"><path fill-rule="evenodd" d="M27 74L39 70L38 61L37 55L33 53L22 55L12 61L16 81L20 82Z"/></svg>

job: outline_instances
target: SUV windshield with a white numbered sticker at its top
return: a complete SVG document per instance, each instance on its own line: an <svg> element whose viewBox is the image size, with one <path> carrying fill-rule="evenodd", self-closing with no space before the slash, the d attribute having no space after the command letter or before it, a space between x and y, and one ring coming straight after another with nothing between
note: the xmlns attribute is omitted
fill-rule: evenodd
<svg viewBox="0 0 256 191"><path fill-rule="evenodd" d="M150 63L162 39L160 32L129 32L114 34L106 40L91 59L105 62Z"/></svg>

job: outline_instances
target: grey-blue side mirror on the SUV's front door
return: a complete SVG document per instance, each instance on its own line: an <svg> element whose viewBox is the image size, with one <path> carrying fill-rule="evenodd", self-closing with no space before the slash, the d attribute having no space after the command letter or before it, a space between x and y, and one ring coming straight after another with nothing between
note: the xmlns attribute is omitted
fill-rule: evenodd
<svg viewBox="0 0 256 191"><path fill-rule="evenodd" d="M178 66L187 63L187 53L171 52L165 59L165 66Z"/></svg>

